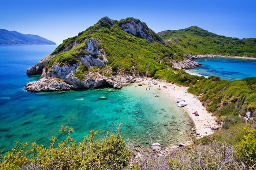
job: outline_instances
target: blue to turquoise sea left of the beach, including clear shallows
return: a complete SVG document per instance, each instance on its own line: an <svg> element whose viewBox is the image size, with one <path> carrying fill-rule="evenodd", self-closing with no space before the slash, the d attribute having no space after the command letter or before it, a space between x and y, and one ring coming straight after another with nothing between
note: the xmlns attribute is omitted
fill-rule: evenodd
<svg viewBox="0 0 256 170"><path fill-rule="evenodd" d="M52 136L63 140L60 126L73 126L77 141L93 129L102 138L116 133L118 123L125 140L149 147L153 142L169 146L188 140L193 124L182 108L162 91L146 91L131 84L121 90L111 88L66 92L28 92L25 84L40 76L26 70L57 46L0 46L0 150L11 150L14 141L36 142L49 147ZM155 98L158 94L160 97ZM105 96L107 100L100 100ZM177 130L177 128L179 130ZM147 143L149 142L149 143Z"/></svg>

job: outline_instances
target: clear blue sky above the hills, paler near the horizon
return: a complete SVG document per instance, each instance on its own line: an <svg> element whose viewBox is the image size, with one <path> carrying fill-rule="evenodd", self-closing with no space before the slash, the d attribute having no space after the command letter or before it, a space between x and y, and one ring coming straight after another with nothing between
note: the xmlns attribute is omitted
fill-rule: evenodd
<svg viewBox="0 0 256 170"><path fill-rule="evenodd" d="M137 18L155 32L196 25L226 37L256 38L256 0L0 0L0 29L57 44L104 16Z"/></svg>

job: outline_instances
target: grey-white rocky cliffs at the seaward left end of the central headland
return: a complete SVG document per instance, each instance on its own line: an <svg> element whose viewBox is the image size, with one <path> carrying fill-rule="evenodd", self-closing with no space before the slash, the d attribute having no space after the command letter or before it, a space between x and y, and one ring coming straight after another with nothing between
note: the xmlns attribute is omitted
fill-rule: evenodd
<svg viewBox="0 0 256 170"><path fill-rule="evenodd" d="M41 79L35 82L29 82L26 84L26 90L28 91L56 91L56 90L69 90L69 89L81 89L81 88L97 88L101 86L111 86L113 88L122 88L122 86L131 82L139 82L140 77L135 75L119 74L115 76L109 76L110 70L105 70L105 74L100 73L99 70L91 71L87 73L84 79L79 80L75 73L79 70L79 66L87 65L90 67L106 66L108 60L103 49L99 49L98 41L93 38L85 40L86 48L83 50L84 55L80 56L80 61L75 64L60 64L54 62L53 65L46 69L46 62L57 55L47 56L43 58L37 64L27 69L28 75L42 74ZM73 46L75 48L79 44ZM72 49L72 48L71 48ZM77 49L75 49L76 51Z"/></svg>

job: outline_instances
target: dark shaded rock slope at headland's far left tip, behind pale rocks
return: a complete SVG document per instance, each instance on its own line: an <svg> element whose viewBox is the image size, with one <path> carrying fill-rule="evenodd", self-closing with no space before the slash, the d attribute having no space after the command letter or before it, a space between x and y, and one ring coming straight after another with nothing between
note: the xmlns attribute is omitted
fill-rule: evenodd
<svg viewBox="0 0 256 170"><path fill-rule="evenodd" d="M38 63L36 63L35 65L29 67L27 69L27 75L42 74L46 62L51 60L53 57L55 57L55 55L49 55L47 57L44 57Z"/></svg>

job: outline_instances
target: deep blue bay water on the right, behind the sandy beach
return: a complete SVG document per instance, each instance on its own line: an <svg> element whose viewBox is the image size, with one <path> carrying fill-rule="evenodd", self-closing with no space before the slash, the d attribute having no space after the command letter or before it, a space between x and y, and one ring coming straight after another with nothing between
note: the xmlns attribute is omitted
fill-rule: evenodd
<svg viewBox="0 0 256 170"><path fill-rule="evenodd" d="M204 58L194 60L202 66L188 69L187 72L204 75L219 76L224 80L241 80L256 77L256 60L243 60L242 58Z"/></svg>

